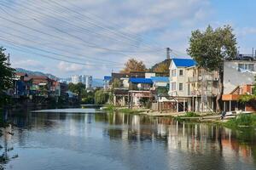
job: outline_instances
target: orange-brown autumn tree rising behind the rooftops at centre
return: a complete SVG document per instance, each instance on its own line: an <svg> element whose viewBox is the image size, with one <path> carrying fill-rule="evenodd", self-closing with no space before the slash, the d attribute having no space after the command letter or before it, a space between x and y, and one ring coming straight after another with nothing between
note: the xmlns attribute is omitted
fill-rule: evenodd
<svg viewBox="0 0 256 170"><path fill-rule="evenodd" d="M129 59L125 63L125 68L120 72L130 72L130 71L147 71L146 65L144 65L143 61L139 61L137 59Z"/></svg>

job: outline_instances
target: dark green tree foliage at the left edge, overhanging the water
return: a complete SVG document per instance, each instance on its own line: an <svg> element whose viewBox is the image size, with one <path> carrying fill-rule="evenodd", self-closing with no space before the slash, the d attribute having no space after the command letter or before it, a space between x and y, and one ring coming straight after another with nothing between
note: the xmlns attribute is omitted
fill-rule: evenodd
<svg viewBox="0 0 256 170"><path fill-rule="evenodd" d="M9 103L9 96L5 94L6 90L13 88L15 69L7 63L6 55L3 53L5 48L0 47L0 106Z"/></svg>

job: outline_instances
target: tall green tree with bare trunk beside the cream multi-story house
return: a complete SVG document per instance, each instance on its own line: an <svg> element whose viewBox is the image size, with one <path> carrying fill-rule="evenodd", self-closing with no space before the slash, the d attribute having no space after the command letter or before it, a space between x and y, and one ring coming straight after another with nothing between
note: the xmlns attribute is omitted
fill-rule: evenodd
<svg viewBox="0 0 256 170"><path fill-rule="evenodd" d="M217 111L221 111L220 100L224 90L224 60L236 57L236 36L231 26L218 27L206 31L195 30L189 39L188 54L207 71L218 71Z"/></svg>

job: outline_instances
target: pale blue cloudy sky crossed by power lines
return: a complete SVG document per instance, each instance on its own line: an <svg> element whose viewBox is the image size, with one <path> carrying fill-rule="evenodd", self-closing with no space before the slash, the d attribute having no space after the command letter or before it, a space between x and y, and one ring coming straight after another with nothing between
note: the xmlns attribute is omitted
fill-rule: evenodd
<svg viewBox="0 0 256 170"><path fill-rule="evenodd" d="M187 58L191 31L230 25L241 53L256 48L254 0L0 0L0 46L11 65L57 77L102 78L127 59L147 67Z"/></svg>

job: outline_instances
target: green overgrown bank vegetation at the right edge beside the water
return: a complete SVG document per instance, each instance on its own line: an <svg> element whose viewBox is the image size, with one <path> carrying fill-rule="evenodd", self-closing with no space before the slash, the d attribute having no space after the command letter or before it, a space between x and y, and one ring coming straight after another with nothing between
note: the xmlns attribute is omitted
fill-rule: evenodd
<svg viewBox="0 0 256 170"><path fill-rule="evenodd" d="M241 115L224 122L225 127L256 127L256 115Z"/></svg>

